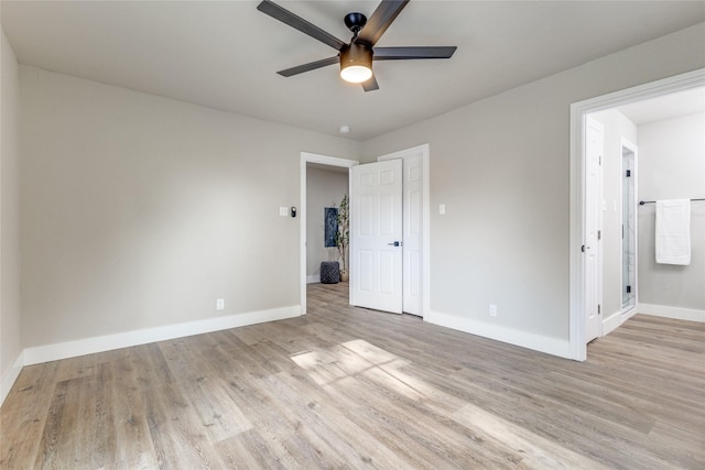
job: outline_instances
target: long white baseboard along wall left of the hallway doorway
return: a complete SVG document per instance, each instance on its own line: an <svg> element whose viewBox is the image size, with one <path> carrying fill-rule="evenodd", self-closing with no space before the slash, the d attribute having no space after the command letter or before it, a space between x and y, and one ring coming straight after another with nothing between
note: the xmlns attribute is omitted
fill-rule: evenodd
<svg viewBox="0 0 705 470"><path fill-rule="evenodd" d="M273 308L270 310L229 315L227 317L208 318L205 320L78 339L76 341L37 346L34 348L26 348L24 350L23 365L56 361L59 359L74 358L76 356L93 354L95 352L110 351L113 349L128 348L130 346L147 345L155 341L183 338L186 336L200 335L204 332L237 328L265 321L282 320L285 318L297 317L300 315L301 306L293 305L290 307Z"/></svg>

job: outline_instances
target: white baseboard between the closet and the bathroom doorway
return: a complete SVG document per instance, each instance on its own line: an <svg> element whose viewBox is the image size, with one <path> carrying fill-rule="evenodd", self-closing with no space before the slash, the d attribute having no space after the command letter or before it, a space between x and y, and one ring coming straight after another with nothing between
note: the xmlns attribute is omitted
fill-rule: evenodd
<svg viewBox="0 0 705 470"><path fill-rule="evenodd" d="M494 339L496 341L507 342L509 345L520 346L522 348L532 349L534 351L545 352L547 354L557 356L560 358L573 359L571 356L571 347L568 339L550 338L541 335L533 335L525 331L507 328L499 325L491 325L484 321L477 321L469 318L460 318L455 315L443 314L440 311L430 311L423 317L424 321L429 321L442 327L456 329L458 331L469 332L471 335L481 336L484 338Z"/></svg>

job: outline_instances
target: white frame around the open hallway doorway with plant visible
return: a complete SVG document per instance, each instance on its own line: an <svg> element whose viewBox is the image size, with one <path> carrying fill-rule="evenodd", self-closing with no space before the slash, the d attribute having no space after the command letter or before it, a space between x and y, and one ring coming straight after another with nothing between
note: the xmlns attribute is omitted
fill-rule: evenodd
<svg viewBox="0 0 705 470"><path fill-rule="evenodd" d="M299 295L301 305L301 315L306 314L306 168L308 163L317 163L319 165L338 166L348 168L348 194L350 194L350 170L352 166L359 165L357 160L340 159L337 156L319 155L315 153L301 152L300 162L300 198L299 198L299 228L300 228L300 272L299 272Z"/></svg>

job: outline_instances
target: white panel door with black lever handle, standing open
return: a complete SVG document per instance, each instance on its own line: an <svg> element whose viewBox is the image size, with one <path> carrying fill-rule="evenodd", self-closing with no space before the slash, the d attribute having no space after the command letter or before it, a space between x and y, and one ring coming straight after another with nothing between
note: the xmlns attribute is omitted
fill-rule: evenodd
<svg viewBox="0 0 705 470"><path fill-rule="evenodd" d="M350 304L402 313L402 161L354 166Z"/></svg>

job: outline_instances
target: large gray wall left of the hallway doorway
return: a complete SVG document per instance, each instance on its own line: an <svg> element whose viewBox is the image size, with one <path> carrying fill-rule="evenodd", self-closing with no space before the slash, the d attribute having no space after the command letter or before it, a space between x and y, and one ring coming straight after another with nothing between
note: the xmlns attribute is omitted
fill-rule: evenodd
<svg viewBox="0 0 705 470"><path fill-rule="evenodd" d="M300 304L279 207L302 151L359 143L26 66L20 89L24 347Z"/></svg>

